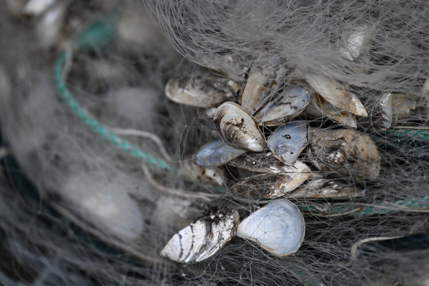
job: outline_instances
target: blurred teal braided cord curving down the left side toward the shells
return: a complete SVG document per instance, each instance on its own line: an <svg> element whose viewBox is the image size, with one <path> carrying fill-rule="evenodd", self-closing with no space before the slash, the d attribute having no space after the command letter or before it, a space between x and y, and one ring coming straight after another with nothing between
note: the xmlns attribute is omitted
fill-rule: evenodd
<svg viewBox="0 0 429 286"><path fill-rule="evenodd" d="M149 153L143 152L137 146L128 143L122 138L116 136L111 130L109 130L109 128L107 128L106 126L98 122L95 118L93 118L91 115L86 113L86 111L79 105L79 103L74 99L71 92L65 86L64 79L62 78L62 69L65 64L66 57L66 53L64 52L55 61L54 81L55 85L57 86L59 96L70 108L73 114L78 116L82 120L82 122L84 122L92 131L96 132L101 137L108 140L114 146L123 149L128 154L133 155L134 157L143 160L148 165L157 167L161 170L177 172L177 170L167 162L152 157Z"/></svg>

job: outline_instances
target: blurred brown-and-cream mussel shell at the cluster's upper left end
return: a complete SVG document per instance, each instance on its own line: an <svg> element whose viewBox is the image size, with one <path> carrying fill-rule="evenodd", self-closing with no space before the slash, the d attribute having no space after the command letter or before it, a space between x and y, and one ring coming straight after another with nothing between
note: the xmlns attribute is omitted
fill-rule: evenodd
<svg viewBox="0 0 429 286"><path fill-rule="evenodd" d="M233 80L206 73L174 77L167 83L165 93L176 103L210 108L217 107L233 97L234 88Z"/></svg>

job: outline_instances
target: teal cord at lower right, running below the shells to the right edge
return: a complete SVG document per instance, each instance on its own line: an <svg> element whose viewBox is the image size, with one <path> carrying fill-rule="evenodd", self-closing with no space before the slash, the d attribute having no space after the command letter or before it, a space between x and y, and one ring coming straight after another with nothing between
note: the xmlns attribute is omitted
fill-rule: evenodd
<svg viewBox="0 0 429 286"><path fill-rule="evenodd" d="M410 200L399 200L393 203L380 204L378 206L361 206L361 209L353 211L359 204L346 203L345 205L332 205L329 207L328 212L330 214L350 212L350 215L374 215L374 214L386 214L393 213L405 208L425 208L429 207L429 197L413 198ZM298 207L302 211L319 212L319 208L314 205L298 204Z"/></svg>

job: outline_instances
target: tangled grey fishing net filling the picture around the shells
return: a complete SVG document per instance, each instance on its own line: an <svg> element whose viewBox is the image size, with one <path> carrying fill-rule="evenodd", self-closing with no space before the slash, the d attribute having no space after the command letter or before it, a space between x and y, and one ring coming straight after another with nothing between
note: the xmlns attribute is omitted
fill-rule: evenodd
<svg viewBox="0 0 429 286"><path fill-rule="evenodd" d="M429 3L5 0L0 13L2 284L429 285ZM338 51L344 33L358 26L371 41L350 61ZM90 34L91 27L101 28ZM293 256L274 257L234 238L195 265L160 257L207 204L229 204L242 215L257 206L156 162L142 171L142 158L168 154L179 166L211 138L198 110L169 101L164 86L204 66L240 79L267 50L343 82L371 115L384 92L405 93L404 105L414 108L388 131L374 116L359 119L358 129L378 146L380 175L343 178L366 190L362 198L297 201L306 236ZM64 70L76 102L144 154L114 146L114 134L94 132L98 125L58 96L61 74L53 69L64 51L73 51ZM171 192L182 189L202 195Z"/></svg>

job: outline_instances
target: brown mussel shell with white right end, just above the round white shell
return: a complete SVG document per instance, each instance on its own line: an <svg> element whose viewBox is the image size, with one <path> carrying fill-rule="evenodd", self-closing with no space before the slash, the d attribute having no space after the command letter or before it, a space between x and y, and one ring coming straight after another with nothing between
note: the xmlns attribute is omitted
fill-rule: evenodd
<svg viewBox="0 0 429 286"><path fill-rule="evenodd" d="M233 185L230 192L243 199L275 199L295 190L310 175L310 168L296 161L291 166L285 166L283 173L261 173L244 178Z"/></svg>

